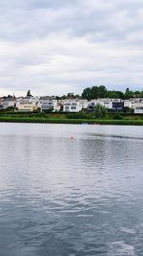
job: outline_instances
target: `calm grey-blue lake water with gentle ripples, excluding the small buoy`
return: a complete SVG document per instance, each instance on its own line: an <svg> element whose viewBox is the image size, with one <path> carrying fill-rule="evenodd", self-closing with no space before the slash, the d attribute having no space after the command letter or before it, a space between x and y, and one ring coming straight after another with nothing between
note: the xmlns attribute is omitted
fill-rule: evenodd
<svg viewBox="0 0 143 256"><path fill-rule="evenodd" d="M85 255L143 255L143 128L0 124L0 256Z"/></svg>

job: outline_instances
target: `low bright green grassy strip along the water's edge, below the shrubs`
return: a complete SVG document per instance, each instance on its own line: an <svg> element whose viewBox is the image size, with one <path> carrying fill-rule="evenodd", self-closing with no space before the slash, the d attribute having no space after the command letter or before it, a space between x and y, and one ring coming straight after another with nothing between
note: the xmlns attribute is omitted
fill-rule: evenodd
<svg viewBox="0 0 143 256"><path fill-rule="evenodd" d="M0 122L12 123L43 123L43 124L91 124L91 125L126 125L126 126L143 126L143 119L71 119L65 116L19 116L19 115L0 115Z"/></svg>

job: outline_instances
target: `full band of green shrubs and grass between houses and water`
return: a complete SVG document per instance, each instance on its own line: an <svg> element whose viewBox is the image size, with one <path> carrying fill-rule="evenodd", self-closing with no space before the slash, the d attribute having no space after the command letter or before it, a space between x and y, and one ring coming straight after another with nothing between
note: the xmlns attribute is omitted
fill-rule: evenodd
<svg viewBox="0 0 143 256"><path fill-rule="evenodd" d="M101 125L143 125L143 115L112 112L96 108L91 113L44 113L1 111L0 122L17 123L59 123L59 124L101 124Z"/></svg>

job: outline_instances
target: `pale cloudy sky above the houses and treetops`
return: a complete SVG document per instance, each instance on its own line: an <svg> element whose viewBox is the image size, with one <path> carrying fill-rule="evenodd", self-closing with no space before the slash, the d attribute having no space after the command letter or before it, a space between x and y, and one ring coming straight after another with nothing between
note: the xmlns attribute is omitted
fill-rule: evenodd
<svg viewBox="0 0 143 256"><path fill-rule="evenodd" d="M142 0L0 1L0 95L143 90Z"/></svg>

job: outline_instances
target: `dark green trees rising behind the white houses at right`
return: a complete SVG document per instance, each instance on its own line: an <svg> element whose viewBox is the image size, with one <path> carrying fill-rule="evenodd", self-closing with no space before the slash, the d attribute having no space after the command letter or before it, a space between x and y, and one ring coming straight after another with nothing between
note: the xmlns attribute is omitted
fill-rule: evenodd
<svg viewBox="0 0 143 256"><path fill-rule="evenodd" d="M128 100L131 98L143 98L143 91L131 91L126 89L125 93L122 91L108 90L104 85L87 87L83 90L82 98L93 100L98 98L122 99Z"/></svg>

